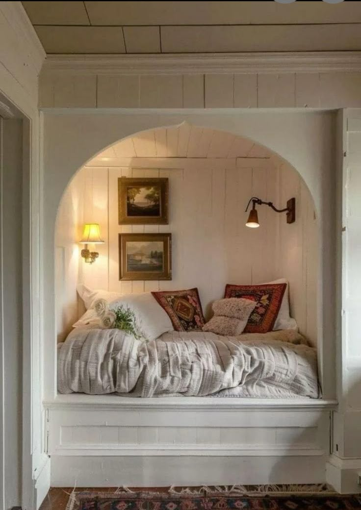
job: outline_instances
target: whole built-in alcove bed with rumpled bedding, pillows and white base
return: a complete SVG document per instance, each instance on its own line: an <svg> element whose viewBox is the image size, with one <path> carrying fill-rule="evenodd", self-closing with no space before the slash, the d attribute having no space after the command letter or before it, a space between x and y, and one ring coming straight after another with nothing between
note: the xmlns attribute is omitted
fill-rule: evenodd
<svg viewBox="0 0 361 510"><path fill-rule="evenodd" d="M201 325L195 291L162 292L164 307L150 293L81 296L87 312L58 345L58 394L44 402L53 486L324 481L334 402L288 300L267 332L230 335L199 330L219 324ZM146 340L99 327L99 297L132 309ZM216 308L223 326L254 326Z"/></svg>

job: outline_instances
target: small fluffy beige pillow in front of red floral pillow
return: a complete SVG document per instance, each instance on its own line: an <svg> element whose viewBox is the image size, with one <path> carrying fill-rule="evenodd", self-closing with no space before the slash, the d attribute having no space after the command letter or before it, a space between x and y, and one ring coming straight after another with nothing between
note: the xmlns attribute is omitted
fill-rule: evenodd
<svg viewBox="0 0 361 510"><path fill-rule="evenodd" d="M241 335L256 304L250 299L237 297L218 299L212 305L214 317L202 329L227 337Z"/></svg>

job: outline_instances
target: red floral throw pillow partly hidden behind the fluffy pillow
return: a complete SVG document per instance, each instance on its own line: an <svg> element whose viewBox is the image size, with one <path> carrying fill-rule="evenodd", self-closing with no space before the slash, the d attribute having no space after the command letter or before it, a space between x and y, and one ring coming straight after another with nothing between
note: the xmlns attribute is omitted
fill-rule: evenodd
<svg viewBox="0 0 361 510"><path fill-rule="evenodd" d="M245 333L267 333L276 321L286 284L226 285L224 297L242 297L256 303L249 316Z"/></svg>

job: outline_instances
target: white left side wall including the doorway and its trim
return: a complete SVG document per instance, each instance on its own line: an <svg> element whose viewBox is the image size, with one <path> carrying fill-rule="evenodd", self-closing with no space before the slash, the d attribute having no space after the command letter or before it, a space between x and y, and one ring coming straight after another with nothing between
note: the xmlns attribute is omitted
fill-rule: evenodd
<svg viewBox="0 0 361 510"><path fill-rule="evenodd" d="M21 3L0 2L0 101L10 106L12 114L21 119L23 129L21 170L17 166L21 155L19 147L12 155L16 171L10 164L2 169L5 186L2 190L2 214L6 234L3 231L1 237L6 239L6 244L3 247L4 260L1 269L6 287L3 288L0 323L5 327L4 318L7 321L16 316L15 323L11 327L9 324L6 326L5 357L2 360L6 376L5 390L10 392L5 401L0 402L4 411L0 432L4 427L6 434L3 451L5 455L2 455L0 460L0 506L6 509L18 505L24 510L34 508L45 496L47 487L46 483L42 483L47 457L42 449L39 314L41 197L37 109L38 75L44 57L44 50ZM8 141L7 145L8 148L11 147ZM14 228L11 228L12 225ZM14 273L15 264L17 267ZM18 320L21 315L22 324ZM0 342L2 340L0 335ZM1 384L0 382L0 399L3 400L4 389ZM19 455L22 455L22 465Z"/></svg>

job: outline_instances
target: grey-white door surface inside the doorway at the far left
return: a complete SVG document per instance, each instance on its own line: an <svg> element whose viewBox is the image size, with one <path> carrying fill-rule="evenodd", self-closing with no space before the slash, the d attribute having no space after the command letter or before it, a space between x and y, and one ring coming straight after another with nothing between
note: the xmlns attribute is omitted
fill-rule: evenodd
<svg viewBox="0 0 361 510"><path fill-rule="evenodd" d="M21 203L22 195L22 121L3 120L2 123L2 210L3 245L1 262L6 271L2 274L2 319L4 338L4 481L5 508L21 501L21 350L22 350L22 276L21 276ZM5 211L11 211L5 215ZM15 376L14 376L15 374Z"/></svg>

